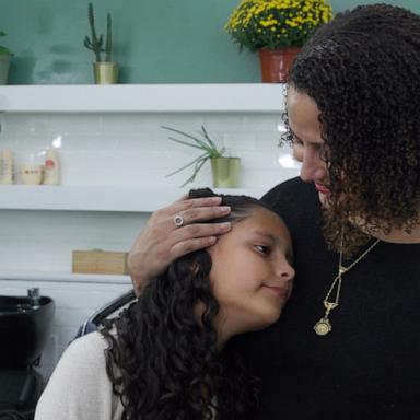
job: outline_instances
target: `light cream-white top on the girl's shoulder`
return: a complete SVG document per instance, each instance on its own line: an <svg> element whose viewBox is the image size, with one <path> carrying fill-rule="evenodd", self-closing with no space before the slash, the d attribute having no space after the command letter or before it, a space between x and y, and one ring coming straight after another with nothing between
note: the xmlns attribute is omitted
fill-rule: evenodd
<svg viewBox="0 0 420 420"><path fill-rule="evenodd" d="M65 351L36 407L35 420L120 420L122 405L106 374L107 341L97 331Z"/></svg>

